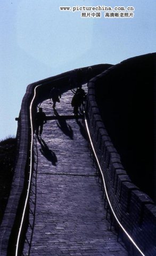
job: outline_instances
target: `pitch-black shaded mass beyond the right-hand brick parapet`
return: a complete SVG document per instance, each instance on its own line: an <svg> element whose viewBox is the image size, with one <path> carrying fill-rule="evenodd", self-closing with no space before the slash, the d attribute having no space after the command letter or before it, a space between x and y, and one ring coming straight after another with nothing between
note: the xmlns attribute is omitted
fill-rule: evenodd
<svg viewBox="0 0 156 256"><path fill-rule="evenodd" d="M130 179L154 199L154 57L110 68L98 81L100 114Z"/></svg>

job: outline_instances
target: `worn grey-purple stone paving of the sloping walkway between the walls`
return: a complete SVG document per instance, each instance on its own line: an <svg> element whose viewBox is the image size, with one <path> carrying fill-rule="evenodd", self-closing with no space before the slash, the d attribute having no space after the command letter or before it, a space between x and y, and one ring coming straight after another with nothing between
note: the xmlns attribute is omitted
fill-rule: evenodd
<svg viewBox="0 0 156 256"><path fill-rule="evenodd" d="M56 104L60 115L73 115L72 92ZM50 100L41 105L54 115ZM35 164L27 242L23 255L127 256L105 219L104 200L88 149L84 121L52 120L42 139L34 138Z"/></svg>

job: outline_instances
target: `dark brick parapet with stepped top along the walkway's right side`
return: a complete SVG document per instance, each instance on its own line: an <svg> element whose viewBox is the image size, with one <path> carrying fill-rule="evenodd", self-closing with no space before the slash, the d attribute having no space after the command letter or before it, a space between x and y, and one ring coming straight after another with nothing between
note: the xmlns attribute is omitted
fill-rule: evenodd
<svg viewBox="0 0 156 256"><path fill-rule="evenodd" d="M156 206L128 177L105 129L95 99L96 84L104 84L104 77L116 66L89 81L87 121L113 210L139 248L145 255L152 256L156 253Z"/></svg>

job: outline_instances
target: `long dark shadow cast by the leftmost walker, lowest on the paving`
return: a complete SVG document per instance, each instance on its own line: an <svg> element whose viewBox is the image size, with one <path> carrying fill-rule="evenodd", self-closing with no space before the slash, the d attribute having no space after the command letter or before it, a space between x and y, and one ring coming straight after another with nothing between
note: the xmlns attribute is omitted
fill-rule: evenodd
<svg viewBox="0 0 156 256"><path fill-rule="evenodd" d="M40 153L46 157L46 159L50 162L52 162L52 164L54 166L56 166L56 163L58 162L58 159L55 155L55 153L48 148L48 146L46 145L45 141L42 138L38 138L38 142L40 143L41 148L39 149Z"/></svg>

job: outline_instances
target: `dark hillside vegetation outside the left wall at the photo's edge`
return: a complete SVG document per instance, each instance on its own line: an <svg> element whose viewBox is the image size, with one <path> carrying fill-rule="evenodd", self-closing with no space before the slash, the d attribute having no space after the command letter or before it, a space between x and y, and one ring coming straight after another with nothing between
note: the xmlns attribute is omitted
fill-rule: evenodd
<svg viewBox="0 0 156 256"><path fill-rule="evenodd" d="M7 137L0 141L0 223L10 195L14 162L16 154L16 139Z"/></svg>

